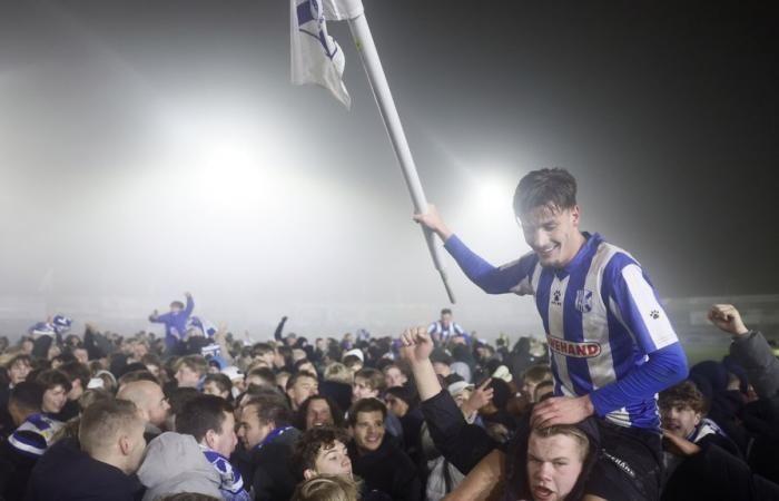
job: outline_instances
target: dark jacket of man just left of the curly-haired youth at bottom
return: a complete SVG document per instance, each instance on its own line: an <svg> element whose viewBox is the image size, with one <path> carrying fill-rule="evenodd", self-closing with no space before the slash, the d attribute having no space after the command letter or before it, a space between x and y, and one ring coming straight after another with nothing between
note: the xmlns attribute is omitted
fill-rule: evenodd
<svg viewBox="0 0 779 501"><path fill-rule="evenodd" d="M300 432L292 428L252 451L252 489L256 501L287 501L297 485L292 464ZM247 477L248 478L248 477Z"/></svg>

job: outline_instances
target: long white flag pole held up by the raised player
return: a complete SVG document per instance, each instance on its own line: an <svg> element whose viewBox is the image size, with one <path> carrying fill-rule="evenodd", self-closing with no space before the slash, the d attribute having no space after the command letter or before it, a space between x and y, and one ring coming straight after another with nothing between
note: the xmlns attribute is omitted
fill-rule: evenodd
<svg viewBox="0 0 779 501"><path fill-rule="evenodd" d="M397 161L401 164L403 177L406 180L411 199L414 203L414 210L416 214L425 214L427 212L427 199L425 198L425 191L422 189L420 175L416 173L416 166L414 165L414 157L411 155L408 141L406 140L406 135L403 131L403 125L401 124L401 117L397 115L395 101L392 99L389 85L387 84L387 78L384 75L384 69L382 68L382 61L378 59L378 52L376 51L376 46L373 42L373 36L371 35L368 21L363 12L354 19L349 19L348 22L349 29L352 30L352 37L354 38L354 42L357 46L357 51L359 52L359 58L363 61L363 67L368 76L373 95L376 98L378 110L384 119L384 126L387 128L392 147L395 150ZM425 240L427 242L427 248L433 257L435 269L437 269L441 274L441 279L446 288L448 301L454 304L454 293L448 285L446 271L444 269L443 259L441 257L441 249L435 242L435 234L424 226L422 228L425 235Z"/></svg>

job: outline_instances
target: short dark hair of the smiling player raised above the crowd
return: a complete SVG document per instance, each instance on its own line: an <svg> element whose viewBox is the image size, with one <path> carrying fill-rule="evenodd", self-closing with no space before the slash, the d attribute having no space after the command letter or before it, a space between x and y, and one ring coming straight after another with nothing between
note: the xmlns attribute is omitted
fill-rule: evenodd
<svg viewBox="0 0 779 501"><path fill-rule="evenodd" d="M514 191L514 214L521 216L535 207L568 209L576 205L576 179L555 167L527 173Z"/></svg>

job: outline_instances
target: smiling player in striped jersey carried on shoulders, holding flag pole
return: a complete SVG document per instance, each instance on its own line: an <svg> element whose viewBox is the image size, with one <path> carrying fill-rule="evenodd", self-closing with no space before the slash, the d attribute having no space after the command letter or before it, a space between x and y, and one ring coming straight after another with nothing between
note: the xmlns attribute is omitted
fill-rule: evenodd
<svg viewBox="0 0 779 501"><path fill-rule="evenodd" d="M469 249L435 207L414 218L438 234L486 293L535 296L555 397L534 407L532 424L600 418L604 454L588 494L655 499L662 469L655 395L687 376L684 352L657 292L630 254L580 232L576 181L566 170L524 176L514 213L532 252L501 267Z"/></svg>

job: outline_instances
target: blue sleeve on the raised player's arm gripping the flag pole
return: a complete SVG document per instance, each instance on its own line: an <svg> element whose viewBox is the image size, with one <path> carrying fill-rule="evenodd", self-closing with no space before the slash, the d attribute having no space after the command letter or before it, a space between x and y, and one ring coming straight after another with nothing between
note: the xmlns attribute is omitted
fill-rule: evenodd
<svg viewBox="0 0 779 501"><path fill-rule="evenodd" d="M539 258L534 253L526 254L517 261L496 267L467 248L456 235L452 235L444 244L444 247L457 262L465 276L485 293L515 293L520 295L534 293L531 282L533 271L539 263Z"/></svg>

